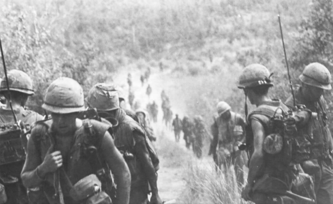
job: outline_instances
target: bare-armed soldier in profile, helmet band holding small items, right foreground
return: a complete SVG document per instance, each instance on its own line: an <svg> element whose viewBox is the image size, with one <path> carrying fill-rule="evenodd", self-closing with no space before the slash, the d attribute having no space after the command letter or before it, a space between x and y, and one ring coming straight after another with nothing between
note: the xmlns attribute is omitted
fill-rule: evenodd
<svg viewBox="0 0 333 204"><path fill-rule="evenodd" d="M282 162L284 160L282 152L269 154L263 148L265 138L273 133L269 128L270 119L288 110L280 100L272 100L268 96L269 88L273 86L270 76L265 66L251 64L244 68L239 77L238 87L244 90L251 104L257 106L247 118L249 131L246 132L246 137L250 163L242 198L255 204L268 204L273 201L295 204L294 199L276 193L290 190L287 188L291 186L294 165ZM286 188L282 188L284 186Z"/></svg>

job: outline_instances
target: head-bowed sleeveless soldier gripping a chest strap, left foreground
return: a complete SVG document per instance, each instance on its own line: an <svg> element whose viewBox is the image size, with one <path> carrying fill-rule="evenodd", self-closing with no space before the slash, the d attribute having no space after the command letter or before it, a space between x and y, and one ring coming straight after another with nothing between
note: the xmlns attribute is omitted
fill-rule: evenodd
<svg viewBox="0 0 333 204"><path fill-rule="evenodd" d="M111 204L111 170L117 184L112 202L128 204L131 175L109 133L111 125L77 118L85 109L81 86L58 78L48 87L42 107L52 119L38 122L32 130L21 173L24 186L41 188L50 204L98 199Z"/></svg>

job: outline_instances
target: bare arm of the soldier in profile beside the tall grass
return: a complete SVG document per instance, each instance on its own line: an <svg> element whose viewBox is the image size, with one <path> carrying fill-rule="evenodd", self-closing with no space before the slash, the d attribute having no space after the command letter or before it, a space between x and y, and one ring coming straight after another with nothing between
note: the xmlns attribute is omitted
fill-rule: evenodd
<svg viewBox="0 0 333 204"><path fill-rule="evenodd" d="M265 139L265 129L257 120L252 120L251 125L254 135L254 153L252 154L249 166L248 185L253 187L254 180L260 174L260 170L264 164L263 144Z"/></svg>

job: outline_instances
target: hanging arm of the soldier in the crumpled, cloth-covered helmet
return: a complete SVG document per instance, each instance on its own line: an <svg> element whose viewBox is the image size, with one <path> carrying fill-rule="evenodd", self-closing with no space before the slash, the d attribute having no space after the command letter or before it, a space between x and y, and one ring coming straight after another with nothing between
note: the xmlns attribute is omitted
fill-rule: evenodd
<svg viewBox="0 0 333 204"><path fill-rule="evenodd" d="M134 145L135 154L137 155L138 160L142 164L143 172L145 173L145 177L147 178L150 184L152 197L154 198L157 197L159 199L158 189L157 189L157 174L155 172L148 149L146 147L144 137L135 134L137 133L133 132L134 138L140 138L140 140L135 141L136 142Z"/></svg>

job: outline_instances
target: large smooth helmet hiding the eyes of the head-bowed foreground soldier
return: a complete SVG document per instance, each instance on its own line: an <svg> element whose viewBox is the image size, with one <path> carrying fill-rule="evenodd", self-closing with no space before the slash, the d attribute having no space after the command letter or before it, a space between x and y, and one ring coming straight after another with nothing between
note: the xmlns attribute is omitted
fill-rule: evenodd
<svg viewBox="0 0 333 204"><path fill-rule="evenodd" d="M74 79L60 77L48 87L42 108L53 113L72 113L84 110L82 87Z"/></svg>

